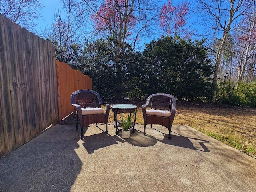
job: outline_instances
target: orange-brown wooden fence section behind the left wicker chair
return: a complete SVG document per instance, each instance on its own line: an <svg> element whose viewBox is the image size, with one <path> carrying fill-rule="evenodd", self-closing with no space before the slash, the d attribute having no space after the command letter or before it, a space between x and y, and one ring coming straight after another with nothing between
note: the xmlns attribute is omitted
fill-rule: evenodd
<svg viewBox="0 0 256 192"><path fill-rule="evenodd" d="M58 80L58 105L60 119L75 111L71 105L71 94L80 89L92 90L92 78L81 71L73 70L68 64L56 60Z"/></svg>

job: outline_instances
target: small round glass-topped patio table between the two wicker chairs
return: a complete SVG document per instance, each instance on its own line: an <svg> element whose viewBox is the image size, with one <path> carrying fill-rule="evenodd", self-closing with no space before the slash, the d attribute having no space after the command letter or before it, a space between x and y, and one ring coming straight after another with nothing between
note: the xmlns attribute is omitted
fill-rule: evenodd
<svg viewBox="0 0 256 192"><path fill-rule="evenodd" d="M122 127L122 124L117 120L117 114L120 113L134 113L135 109L137 108L136 105L132 105L132 104L114 104L111 105L111 110L114 113L114 127L116 128L116 134L118 133L119 130L122 129L118 129L118 127ZM131 126L132 126L132 132L134 133L134 127L135 127L135 122L136 122L136 113L134 114L134 122L131 122Z"/></svg>

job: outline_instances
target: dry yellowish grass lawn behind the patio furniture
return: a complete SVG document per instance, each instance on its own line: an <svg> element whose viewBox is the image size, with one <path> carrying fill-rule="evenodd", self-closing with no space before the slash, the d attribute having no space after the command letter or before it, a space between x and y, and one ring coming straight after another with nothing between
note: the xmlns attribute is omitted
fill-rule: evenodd
<svg viewBox="0 0 256 192"><path fill-rule="evenodd" d="M138 106L136 124L143 124L142 104L145 101L105 100L108 104L129 103ZM174 125L188 125L256 158L256 108L224 104L177 102ZM120 115L118 115L118 119ZM108 123L114 121L110 110ZM61 124L74 124L74 115Z"/></svg>

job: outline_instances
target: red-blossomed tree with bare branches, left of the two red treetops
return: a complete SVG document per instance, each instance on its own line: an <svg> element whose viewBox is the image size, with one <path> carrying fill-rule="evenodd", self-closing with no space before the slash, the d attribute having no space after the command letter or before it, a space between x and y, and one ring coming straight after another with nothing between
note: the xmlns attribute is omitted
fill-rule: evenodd
<svg viewBox="0 0 256 192"><path fill-rule="evenodd" d="M91 16L96 32L114 38L116 62L125 51L127 36L136 26L133 6L134 0L106 0Z"/></svg>

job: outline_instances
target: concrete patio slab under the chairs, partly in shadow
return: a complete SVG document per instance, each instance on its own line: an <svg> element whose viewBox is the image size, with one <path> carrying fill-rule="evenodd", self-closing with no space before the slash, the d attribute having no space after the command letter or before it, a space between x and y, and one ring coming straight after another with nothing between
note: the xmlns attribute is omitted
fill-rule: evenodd
<svg viewBox="0 0 256 192"><path fill-rule="evenodd" d="M100 125L105 130L104 125ZM3 192L255 192L256 159L189 126L135 126L129 139L54 125L0 159Z"/></svg>

